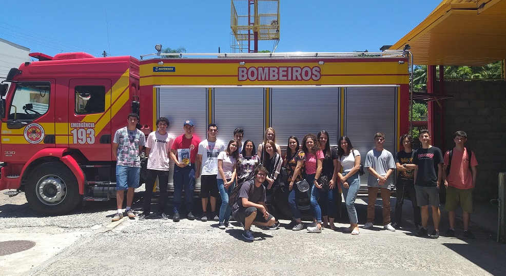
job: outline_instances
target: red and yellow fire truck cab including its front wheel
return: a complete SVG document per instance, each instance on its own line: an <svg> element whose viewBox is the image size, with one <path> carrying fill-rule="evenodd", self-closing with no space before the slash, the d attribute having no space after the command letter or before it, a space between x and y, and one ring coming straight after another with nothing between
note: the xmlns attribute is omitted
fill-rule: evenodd
<svg viewBox="0 0 506 276"><path fill-rule="evenodd" d="M39 61L11 69L0 87L0 190L24 191L30 206L48 215L69 212L82 198L108 200L115 195L111 135L126 125L132 105L139 113L132 101L139 96L139 61L30 56Z"/></svg>

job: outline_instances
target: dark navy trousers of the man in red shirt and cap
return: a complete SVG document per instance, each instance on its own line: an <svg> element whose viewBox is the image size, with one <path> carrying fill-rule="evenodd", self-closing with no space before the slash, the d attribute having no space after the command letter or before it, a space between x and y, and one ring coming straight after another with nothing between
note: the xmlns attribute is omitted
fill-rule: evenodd
<svg viewBox="0 0 506 276"><path fill-rule="evenodd" d="M193 189L195 188L195 164L190 164L184 168L174 166L173 180L172 211L174 213L181 211L181 196L184 187L186 212L191 212L193 209Z"/></svg>

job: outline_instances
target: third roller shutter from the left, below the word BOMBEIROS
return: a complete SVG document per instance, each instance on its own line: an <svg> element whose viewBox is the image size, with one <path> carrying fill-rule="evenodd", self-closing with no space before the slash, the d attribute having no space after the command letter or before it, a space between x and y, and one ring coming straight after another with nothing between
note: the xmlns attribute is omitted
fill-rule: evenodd
<svg viewBox="0 0 506 276"><path fill-rule="evenodd" d="M278 144L286 146L290 135L302 143L305 134L316 135L324 129L330 145L337 145L339 87L283 87L271 91L271 125Z"/></svg>

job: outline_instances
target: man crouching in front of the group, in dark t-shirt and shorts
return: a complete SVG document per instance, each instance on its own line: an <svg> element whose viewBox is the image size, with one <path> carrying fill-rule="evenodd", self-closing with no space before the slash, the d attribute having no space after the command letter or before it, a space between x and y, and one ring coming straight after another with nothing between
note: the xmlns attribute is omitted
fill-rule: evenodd
<svg viewBox="0 0 506 276"><path fill-rule="evenodd" d="M276 222L265 206L265 187L262 183L267 173L263 166L255 168L255 178L241 185L237 202L232 206L232 216L244 225L242 236L248 241L255 239L250 230L251 225L271 226Z"/></svg>

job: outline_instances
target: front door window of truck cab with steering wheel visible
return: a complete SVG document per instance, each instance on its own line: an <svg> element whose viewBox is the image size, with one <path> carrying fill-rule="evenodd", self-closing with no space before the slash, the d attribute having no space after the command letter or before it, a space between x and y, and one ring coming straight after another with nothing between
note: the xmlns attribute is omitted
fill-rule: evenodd
<svg viewBox="0 0 506 276"><path fill-rule="evenodd" d="M16 84L9 111L9 120L33 121L49 109L49 82Z"/></svg>

